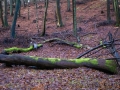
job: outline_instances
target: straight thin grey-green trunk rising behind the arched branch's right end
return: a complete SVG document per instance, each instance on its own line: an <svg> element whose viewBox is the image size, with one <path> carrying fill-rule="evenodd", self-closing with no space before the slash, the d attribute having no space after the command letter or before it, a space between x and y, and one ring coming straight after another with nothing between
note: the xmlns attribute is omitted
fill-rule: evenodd
<svg viewBox="0 0 120 90"><path fill-rule="evenodd" d="M77 19L76 19L76 0L72 0L73 4L73 34L77 37Z"/></svg>

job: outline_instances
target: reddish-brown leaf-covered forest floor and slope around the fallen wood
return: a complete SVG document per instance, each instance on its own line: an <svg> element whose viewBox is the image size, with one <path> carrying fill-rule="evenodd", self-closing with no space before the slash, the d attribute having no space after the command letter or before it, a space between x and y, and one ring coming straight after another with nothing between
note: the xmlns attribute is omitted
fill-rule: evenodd
<svg viewBox="0 0 120 90"><path fill-rule="evenodd" d="M66 0L67 1L67 0ZM67 12L67 3L61 0L61 13L63 27L56 26L55 1L50 1L46 35L39 37L43 26L44 3L38 3L38 26L36 23L35 5L30 5L30 20L28 20L28 7L21 8L21 17L17 20L16 39L10 38L10 28L0 27L0 51L9 47L29 47L30 42L40 43L50 38L61 38L70 42L77 42L72 30L72 12ZM85 1L85 0L84 0ZM112 6L111 6L112 7ZM115 20L111 10L112 20ZM83 48L77 49L67 45L45 43L43 47L22 55L51 57L51 58L76 58L83 52L97 46L106 38L110 31L115 39L120 39L120 28L113 22L107 25L105 0L87 0L77 3L77 27L80 44ZM12 17L8 16L11 26ZM1 23L1 22L0 22ZM1 24L0 24L1 25ZM117 46L119 48L119 46ZM119 50L120 51L120 50ZM107 49L103 49L92 58L111 58ZM98 57L99 56L99 57ZM88 57L88 56L85 56ZM75 69L41 70L25 66L6 67L0 64L0 90L119 90L120 75L80 67Z"/></svg>

